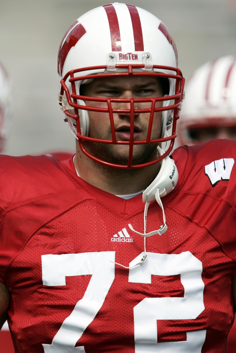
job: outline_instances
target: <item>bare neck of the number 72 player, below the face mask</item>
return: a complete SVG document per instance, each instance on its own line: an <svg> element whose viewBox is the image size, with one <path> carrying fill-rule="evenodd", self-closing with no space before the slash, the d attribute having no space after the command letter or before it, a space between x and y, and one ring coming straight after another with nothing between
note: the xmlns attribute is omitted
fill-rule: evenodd
<svg viewBox="0 0 236 353"><path fill-rule="evenodd" d="M74 164L80 178L113 195L132 194L146 189L160 170L160 163L132 170L107 167L78 150Z"/></svg>

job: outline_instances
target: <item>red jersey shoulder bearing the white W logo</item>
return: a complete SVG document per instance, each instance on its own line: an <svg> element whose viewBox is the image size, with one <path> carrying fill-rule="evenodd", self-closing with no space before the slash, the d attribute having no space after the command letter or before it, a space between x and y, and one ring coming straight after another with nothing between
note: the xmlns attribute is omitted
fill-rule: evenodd
<svg viewBox="0 0 236 353"><path fill-rule="evenodd" d="M236 183L235 140L216 139L206 144L181 146L172 156L180 176L177 189L209 193L234 203L231 193Z"/></svg>

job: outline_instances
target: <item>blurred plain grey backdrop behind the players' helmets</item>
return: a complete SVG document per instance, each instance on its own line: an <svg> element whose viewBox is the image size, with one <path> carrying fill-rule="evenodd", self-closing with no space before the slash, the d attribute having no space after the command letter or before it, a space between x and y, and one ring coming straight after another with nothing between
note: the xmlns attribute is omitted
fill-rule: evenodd
<svg viewBox="0 0 236 353"><path fill-rule="evenodd" d="M5 153L75 148L57 102L57 52L69 26L101 0L0 0L0 61L12 80L13 124ZM171 31L186 79L204 62L236 55L235 0L130 0ZM81 53L82 55L82 53Z"/></svg>

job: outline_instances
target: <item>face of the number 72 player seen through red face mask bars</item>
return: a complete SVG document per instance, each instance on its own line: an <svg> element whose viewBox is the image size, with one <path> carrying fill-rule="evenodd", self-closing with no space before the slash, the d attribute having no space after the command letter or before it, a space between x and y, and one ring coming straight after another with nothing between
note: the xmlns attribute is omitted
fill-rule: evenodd
<svg viewBox="0 0 236 353"><path fill-rule="evenodd" d="M162 87L159 79L155 77L113 77L98 78L93 82L81 86L81 94L90 97L103 98L149 98L161 97ZM86 102L86 105L107 108L106 102ZM156 107L161 107L157 102ZM129 103L112 103L115 109L129 109ZM150 102L136 103L134 108L150 108ZM89 136L99 139L111 140L111 125L108 113L89 112ZM116 139L128 141L130 139L130 114L114 113ZM136 113L134 116L134 140L145 140L148 131L150 113ZM161 112L154 114L151 138L160 138ZM86 149L98 158L107 162L126 164L128 160L128 145L102 144L85 142ZM133 164L145 163L156 158L156 144L134 145Z"/></svg>

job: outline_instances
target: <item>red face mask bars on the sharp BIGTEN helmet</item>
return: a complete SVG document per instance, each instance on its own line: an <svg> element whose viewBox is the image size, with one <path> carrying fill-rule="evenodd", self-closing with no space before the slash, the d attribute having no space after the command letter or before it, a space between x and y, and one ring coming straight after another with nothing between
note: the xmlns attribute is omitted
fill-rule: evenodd
<svg viewBox="0 0 236 353"><path fill-rule="evenodd" d="M78 72L83 71L83 74L85 71L90 71L91 70L106 70L107 66L93 66L93 67L86 67L86 68L80 68L76 70L71 70L69 71L61 80L61 91L60 91L60 98L59 98L59 104L62 106L62 109L65 113L70 118L73 118L76 120L76 127L77 127L77 138L79 140L79 145L81 150L84 152L86 156L91 158L92 160L104 164L106 166L110 167L115 167L115 168L120 168L120 169L137 169L137 168L143 168L147 166L151 166L152 164L155 164L159 161L161 161L163 158L165 158L169 153L171 153L174 145L174 139L177 136L175 129L176 129L176 121L179 119L179 113L181 109L181 103L183 100L183 92L184 92L184 82L185 79L182 76L181 71L178 68L170 67L170 66L157 66L154 65L153 69L155 71L162 70L162 72L146 72L143 71L142 68L144 68L143 64L120 64L116 65L116 68L121 68L121 69L126 69L126 72L109 72L109 73L101 73L101 74L88 74L84 76L76 76ZM135 69L141 69L142 71L137 71ZM163 73L163 70L165 71L174 71L176 74L171 74L171 73ZM88 79L96 79L96 78L103 78L103 77L131 77L131 76L152 76L152 77L163 77L163 78L168 78L175 80L175 94L174 95L168 95L165 97L152 97L152 98L99 98L99 97L88 97L88 96L81 96L76 93L76 82L77 81L82 81L82 80L88 80ZM71 84L71 90L69 90L66 81L69 80ZM71 91L71 93L70 93ZM63 104L63 96L66 96L67 102L65 105ZM77 100L82 100L82 101L93 101L93 102L106 102L107 103L107 108L101 108L101 107L91 107L91 106L84 106L80 105L77 103ZM164 107L155 107L156 102L165 102L165 101L173 101L171 105L167 105ZM140 102L150 102L151 107L150 108L145 108L145 109L135 109L134 104L135 103L140 103ZM68 104L69 105L68 105ZM129 109L115 109L112 107L112 103L129 103ZM165 105L165 103L164 103ZM71 108L70 108L71 107ZM74 109L75 114L69 112L70 109ZM79 109L82 110L87 110L93 111L93 112L104 112L104 113L109 113L109 118L110 118L110 124L111 124L111 140L104 140L104 139L98 139L98 138L92 138L89 136L84 136L81 134L81 128L80 128L80 119L79 119ZM162 127L162 130L166 129L168 130L168 126L172 125L172 120L173 120L173 125L172 125L172 134L171 136L163 137L163 138L156 138L156 139L151 139L151 130L152 130L152 122L154 118L154 113L155 112L173 112L172 114L169 114L169 119L166 123L166 126ZM130 114L130 139L127 140L117 140L116 139L116 132L115 132L115 126L114 126L114 117L113 113L125 113L125 114ZM148 132L145 140L134 140L134 115L135 113L150 113L150 119L149 119L149 126L148 126ZM96 156L93 156L90 152L88 152L84 146L84 141L91 141L91 142L98 142L98 143L105 143L105 144L117 144L117 145L128 145L129 146L129 154L128 154L128 163L127 164L116 164L116 163L110 163L104 160L99 159ZM168 149L163 153L163 155L157 157L155 160L142 163L142 164L132 164L132 155L133 155L133 146L138 145L138 144L150 144L150 143L155 143L155 144L160 144L163 142L168 142L170 141Z"/></svg>

